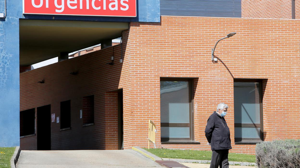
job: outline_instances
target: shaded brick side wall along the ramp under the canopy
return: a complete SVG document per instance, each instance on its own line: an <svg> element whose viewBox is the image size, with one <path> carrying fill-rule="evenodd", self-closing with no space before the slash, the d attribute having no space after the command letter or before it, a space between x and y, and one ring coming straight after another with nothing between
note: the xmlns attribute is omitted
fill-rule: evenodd
<svg viewBox="0 0 300 168"><path fill-rule="evenodd" d="M123 57L128 54L126 33L124 32L123 38ZM128 61L119 63L120 45L114 47L114 53L113 66L106 64L111 62L110 57L113 55L113 47L109 47L20 74L20 111L51 104L51 114L55 113L55 117L59 117L60 102L71 100L71 129L60 131L60 123L56 123L56 120L51 123L52 150L108 148L105 141L110 139L106 138L108 136L105 134L106 129L117 130L117 127L111 125L106 128L106 122L111 122L110 117L116 120L117 114L113 116L115 113L110 113L111 116L104 116L106 113L104 93L123 87L124 97L127 96L127 87L124 87L119 79L126 76L121 70L128 69ZM71 75L70 72L78 74ZM44 84L38 83L43 79ZM123 83L127 84L126 81ZM83 109L82 99L87 95L94 95L95 124L82 127L83 119L80 119L79 111ZM36 137L21 138L22 150L36 150Z"/></svg>

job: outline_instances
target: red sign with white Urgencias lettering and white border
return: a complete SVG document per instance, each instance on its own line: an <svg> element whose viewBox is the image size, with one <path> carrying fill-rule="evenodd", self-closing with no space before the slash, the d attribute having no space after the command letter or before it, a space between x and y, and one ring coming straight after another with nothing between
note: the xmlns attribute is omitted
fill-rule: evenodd
<svg viewBox="0 0 300 168"><path fill-rule="evenodd" d="M23 0L23 14L136 17L136 0Z"/></svg>

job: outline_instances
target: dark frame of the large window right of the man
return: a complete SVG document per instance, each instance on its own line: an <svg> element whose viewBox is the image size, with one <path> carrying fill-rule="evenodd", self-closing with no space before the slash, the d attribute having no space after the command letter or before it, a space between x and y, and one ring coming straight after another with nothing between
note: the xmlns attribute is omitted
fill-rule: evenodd
<svg viewBox="0 0 300 168"><path fill-rule="evenodd" d="M264 79L242 79L242 78L235 78L233 82L248 82L248 83L259 83L259 116L260 116L260 123L254 124L243 124L243 123L234 123L234 127L256 127L260 128L260 138L234 138L235 144L242 144L242 143L259 143L264 141L263 137L263 109L262 109L262 82Z"/></svg>

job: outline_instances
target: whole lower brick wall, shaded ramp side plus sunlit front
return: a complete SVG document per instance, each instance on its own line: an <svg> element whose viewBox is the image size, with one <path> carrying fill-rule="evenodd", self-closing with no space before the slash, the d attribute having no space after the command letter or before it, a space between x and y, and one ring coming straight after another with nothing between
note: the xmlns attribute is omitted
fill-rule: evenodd
<svg viewBox="0 0 300 168"><path fill-rule="evenodd" d="M59 132L59 124L52 123L52 149L116 149L117 96L111 92L123 88L125 149L148 146L151 119L158 127L158 148L210 150L206 120L217 104L225 102L231 151L254 153L255 145L234 144L233 78L268 79L263 84L265 140L299 139L294 113L300 104L299 22L162 16L161 23L131 23L123 35L124 63L118 61L118 46L113 66L105 64L110 62L110 47L22 73L20 108L51 104L52 113L59 116L59 102L71 99L72 129ZM218 43L219 61L212 63L211 48L229 32L237 34ZM77 70L78 75L69 74ZM194 136L200 145L161 145L160 77L195 79ZM45 83L38 84L42 79ZM95 125L82 128L79 110L87 95L95 95Z"/></svg>

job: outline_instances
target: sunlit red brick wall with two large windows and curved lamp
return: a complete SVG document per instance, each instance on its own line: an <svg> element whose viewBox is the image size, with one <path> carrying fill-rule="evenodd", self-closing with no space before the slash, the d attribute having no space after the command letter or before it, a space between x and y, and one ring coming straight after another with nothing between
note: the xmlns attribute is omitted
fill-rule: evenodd
<svg viewBox="0 0 300 168"><path fill-rule="evenodd" d="M221 61L212 63L211 48L229 32L237 34L218 44L215 55ZM151 119L159 130L158 148L209 150L206 120L218 103L225 102L231 151L253 153L255 145L234 145L233 78L268 79L263 97L265 140L300 138L291 112L300 103L298 38L298 20L162 16L161 24L131 23L133 145L147 146ZM159 143L160 77L199 78L194 86L194 134L201 145Z"/></svg>

